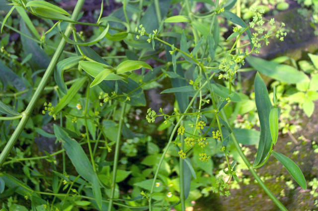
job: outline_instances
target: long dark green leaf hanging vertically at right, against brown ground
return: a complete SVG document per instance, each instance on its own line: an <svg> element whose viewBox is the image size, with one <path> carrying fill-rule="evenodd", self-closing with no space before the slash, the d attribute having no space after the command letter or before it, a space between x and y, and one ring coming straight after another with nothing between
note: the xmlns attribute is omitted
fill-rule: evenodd
<svg viewBox="0 0 318 211"><path fill-rule="evenodd" d="M267 154L269 153L270 146L272 143L272 137L270 133L269 126L269 113L272 108L272 104L268 97L268 91L266 85L259 75L256 73L254 80L255 89L255 103L257 108L257 113L260 122L260 139L257 149L256 158L254 161L254 166L261 163Z"/></svg>

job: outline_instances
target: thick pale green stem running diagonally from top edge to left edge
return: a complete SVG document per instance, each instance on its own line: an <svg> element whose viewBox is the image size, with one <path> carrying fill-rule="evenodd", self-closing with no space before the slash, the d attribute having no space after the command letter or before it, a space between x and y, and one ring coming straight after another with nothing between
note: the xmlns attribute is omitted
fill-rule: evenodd
<svg viewBox="0 0 318 211"><path fill-rule="evenodd" d="M81 7L84 3L84 0L78 0L76 6L75 6L75 9L74 9L74 12L72 14L72 20L76 20L78 15L79 15L79 12L81 10ZM65 31L65 34L67 36L70 36L71 34L71 31L72 31L72 23L70 23ZM7 141L7 143L5 144L3 150L1 151L1 154L0 154L0 168L2 167L2 164L5 160L5 158L8 156L11 148L13 147L15 141L18 139L18 137L20 136L21 132L23 131L24 129L24 126L26 125L29 117L31 116L32 114L32 111L34 109L34 106L35 104L38 102L38 99L42 93L42 91L44 90L44 87L48 81L49 78L51 78L51 74L63 52L63 49L66 45L66 41L63 39L61 40L59 46L57 47L53 57L52 57L52 60L48 66L48 68L46 69L40 83L39 83L39 86L38 88L35 90L31 100L30 100L30 103L28 104L28 106L26 107L25 111L22 113L22 118L19 122L19 124L17 125L16 129L14 130L12 136L10 137L9 141Z"/></svg>

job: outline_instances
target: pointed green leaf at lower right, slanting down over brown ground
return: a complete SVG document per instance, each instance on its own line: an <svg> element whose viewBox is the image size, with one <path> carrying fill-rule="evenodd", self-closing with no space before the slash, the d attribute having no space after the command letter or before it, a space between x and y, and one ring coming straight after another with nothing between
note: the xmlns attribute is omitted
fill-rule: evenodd
<svg viewBox="0 0 318 211"><path fill-rule="evenodd" d="M304 189L307 189L306 179L304 177L304 174L302 170L298 167L294 161L292 161L290 158L286 157L285 155L273 151L272 154L276 157L279 162L281 162L287 171L292 175L294 180Z"/></svg>

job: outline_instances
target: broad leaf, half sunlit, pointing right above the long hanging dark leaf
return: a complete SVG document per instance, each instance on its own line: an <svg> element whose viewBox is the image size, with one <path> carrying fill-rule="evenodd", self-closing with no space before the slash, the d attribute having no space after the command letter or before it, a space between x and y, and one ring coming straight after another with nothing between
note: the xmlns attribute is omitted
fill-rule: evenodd
<svg viewBox="0 0 318 211"><path fill-rule="evenodd" d="M257 57L246 57L246 61L255 70L260 73L272 77L274 79L280 80L286 83L299 83L308 79L308 76L297 69L288 66L281 65L275 62L268 62L266 60Z"/></svg>

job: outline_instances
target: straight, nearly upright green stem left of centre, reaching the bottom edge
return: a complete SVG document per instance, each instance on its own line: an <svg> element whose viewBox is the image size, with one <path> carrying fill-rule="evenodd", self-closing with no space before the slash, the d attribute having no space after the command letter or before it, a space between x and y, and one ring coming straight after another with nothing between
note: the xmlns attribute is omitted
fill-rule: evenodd
<svg viewBox="0 0 318 211"><path fill-rule="evenodd" d="M121 108L121 113L120 113L117 140L116 140L116 146L115 146L113 178L112 178L112 182L111 182L111 193L110 193L110 200L109 200L109 204L108 204L108 211L111 211L111 208L113 206L113 199L114 199L114 195L115 195L116 172L117 172L118 157L119 157L120 136L121 136L121 129L123 126L125 109L126 109L126 103L123 103L123 106Z"/></svg>

